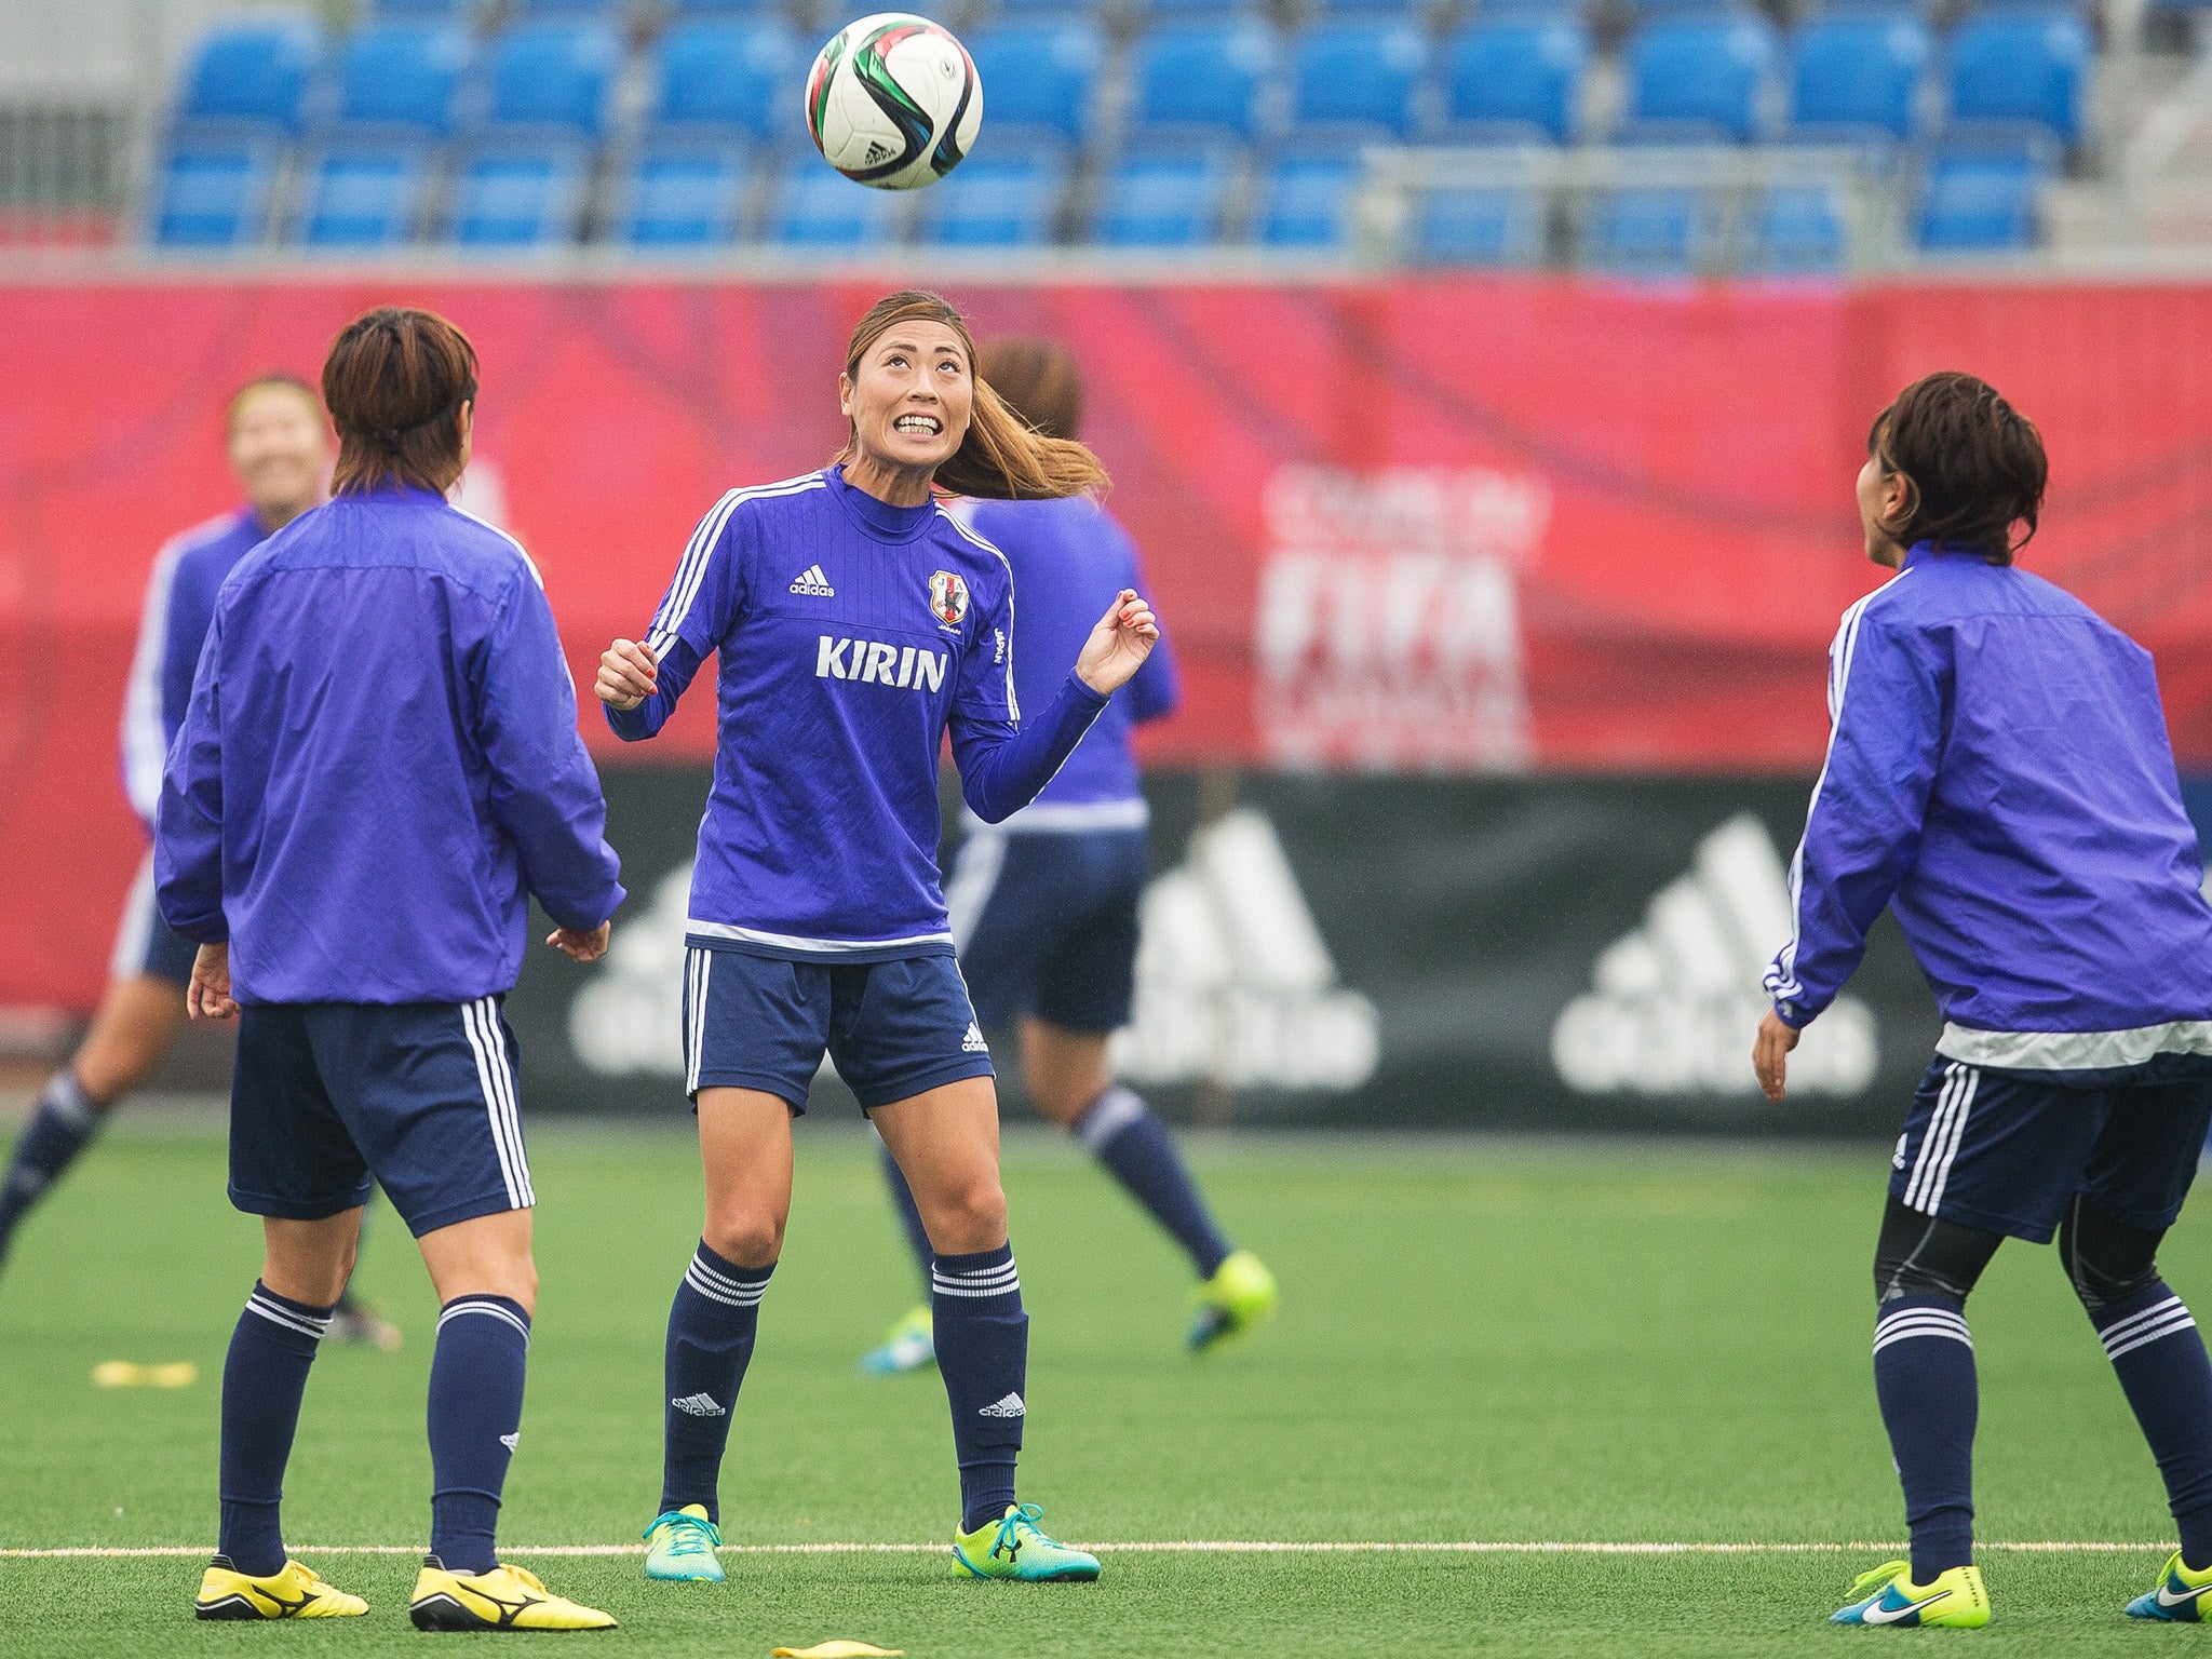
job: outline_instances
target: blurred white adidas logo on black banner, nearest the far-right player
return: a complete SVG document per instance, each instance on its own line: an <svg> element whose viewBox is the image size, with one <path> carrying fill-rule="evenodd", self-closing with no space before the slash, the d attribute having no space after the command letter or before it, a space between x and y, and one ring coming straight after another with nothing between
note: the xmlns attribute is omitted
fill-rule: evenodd
<svg viewBox="0 0 2212 1659"><path fill-rule="evenodd" d="M1787 938L1790 874L1767 827L1736 814L1599 953L1593 989L1553 1022L1553 1066L1584 1095L1756 1093L1759 980ZM1878 1064L1874 1011L1836 998L1790 1055L1790 1093L1860 1095Z"/></svg>

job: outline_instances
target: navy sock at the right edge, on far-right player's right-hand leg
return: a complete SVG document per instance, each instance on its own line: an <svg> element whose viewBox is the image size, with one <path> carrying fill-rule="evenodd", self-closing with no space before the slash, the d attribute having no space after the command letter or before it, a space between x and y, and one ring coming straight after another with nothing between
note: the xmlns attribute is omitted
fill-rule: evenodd
<svg viewBox="0 0 2212 1659"><path fill-rule="evenodd" d="M2135 1407L2181 1528L2181 1559L2212 1566L2212 1360L2188 1305L2163 1281L2090 1312Z"/></svg>

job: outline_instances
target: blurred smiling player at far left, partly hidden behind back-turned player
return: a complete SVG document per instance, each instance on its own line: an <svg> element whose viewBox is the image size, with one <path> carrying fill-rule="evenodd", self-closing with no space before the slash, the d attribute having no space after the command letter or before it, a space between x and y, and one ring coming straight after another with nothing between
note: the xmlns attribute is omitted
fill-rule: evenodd
<svg viewBox="0 0 2212 1659"><path fill-rule="evenodd" d="M292 374L263 374L230 396L230 471L246 504L170 540L153 562L137 655L124 699L124 792L153 834L161 763L192 697L192 670L215 615L215 591L263 538L323 500L330 478L330 427L314 387ZM153 852L124 905L108 991L84 1044L38 1097L0 1183L0 1261L24 1212L60 1179L124 1095L161 1064L184 1026L184 987L192 942L153 902ZM398 1327L352 1296L338 1301L330 1334L398 1347Z"/></svg>

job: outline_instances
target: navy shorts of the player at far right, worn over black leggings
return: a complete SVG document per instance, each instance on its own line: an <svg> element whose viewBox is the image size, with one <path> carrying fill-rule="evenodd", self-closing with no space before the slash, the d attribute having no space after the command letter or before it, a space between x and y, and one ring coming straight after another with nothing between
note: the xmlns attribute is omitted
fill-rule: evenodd
<svg viewBox="0 0 2212 1659"><path fill-rule="evenodd" d="M1922 1214L2031 1243L2051 1241L2075 1194L2159 1232L2181 1214L2208 1124L2205 1077L2073 1088L1938 1055L1889 1190Z"/></svg>

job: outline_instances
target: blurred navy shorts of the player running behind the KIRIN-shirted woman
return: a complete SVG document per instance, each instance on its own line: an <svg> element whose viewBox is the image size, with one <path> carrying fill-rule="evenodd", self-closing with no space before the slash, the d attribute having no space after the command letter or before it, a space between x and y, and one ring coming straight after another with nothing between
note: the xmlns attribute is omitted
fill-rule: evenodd
<svg viewBox="0 0 2212 1659"><path fill-rule="evenodd" d="M945 905L982 1022L1126 1026L1146 874L1144 830L971 832Z"/></svg>

